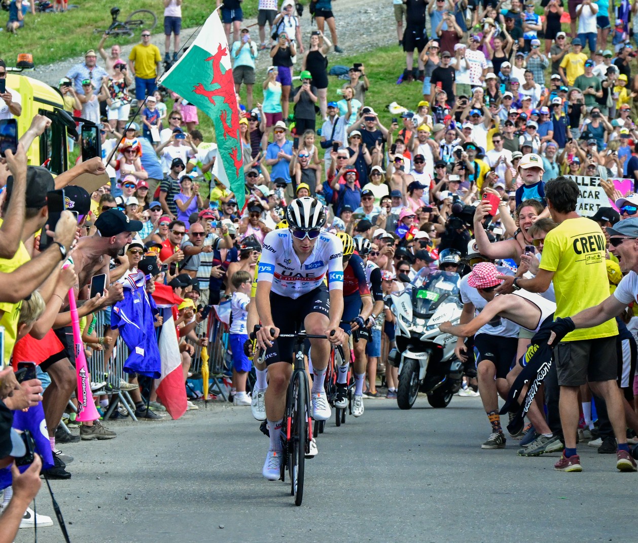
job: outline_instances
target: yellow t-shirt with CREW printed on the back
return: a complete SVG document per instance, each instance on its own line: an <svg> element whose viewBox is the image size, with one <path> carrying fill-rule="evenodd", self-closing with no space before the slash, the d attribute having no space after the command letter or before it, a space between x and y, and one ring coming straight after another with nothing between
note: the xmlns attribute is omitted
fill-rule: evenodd
<svg viewBox="0 0 638 543"><path fill-rule="evenodd" d="M547 233L540 268L554 272L555 317L572 317L609 297L605 236L600 226L579 217L561 222ZM593 328L568 333L563 341L610 337L618 334L611 319Z"/></svg>

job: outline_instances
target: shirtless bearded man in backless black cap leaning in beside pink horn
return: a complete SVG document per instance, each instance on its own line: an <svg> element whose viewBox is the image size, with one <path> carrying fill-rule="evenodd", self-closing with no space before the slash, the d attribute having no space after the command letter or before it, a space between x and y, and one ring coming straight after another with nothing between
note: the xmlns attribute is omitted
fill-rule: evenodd
<svg viewBox="0 0 638 543"><path fill-rule="evenodd" d="M78 275L78 284L73 287L78 298L87 298L89 284L94 275L105 273L106 284L119 279L128 269L128 259L120 257L120 266L109 270L111 258L117 257L125 245L131 243L131 234L142 229L142 222L131 221L120 210L112 209L101 213L95 221L97 233L78 240L76 249L71 257ZM78 301L78 317L99 310L115 301L122 300L122 285L112 284L105 291L105 295L98 294L87 301ZM68 302L64 304L68 308ZM54 324L54 332L63 345L63 349L49 356L41 365L51 377L51 385L45 391L45 414L49 435L53 436L60 422L64 407L77 385L75 375L75 357L73 356L73 330L71 329L70 313L58 315ZM71 363L73 360L73 363ZM104 428L100 421L82 423L80 436L83 440L111 439L115 433Z"/></svg>

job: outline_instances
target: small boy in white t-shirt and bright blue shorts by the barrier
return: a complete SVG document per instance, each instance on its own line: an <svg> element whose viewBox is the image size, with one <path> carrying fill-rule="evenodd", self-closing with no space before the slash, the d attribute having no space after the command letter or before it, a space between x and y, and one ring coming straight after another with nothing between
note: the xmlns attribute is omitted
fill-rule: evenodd
<svg viewBox="0 0 638 543"><path fill-rule="evenodd" d="M248 356L244 353L244 343L248 340L246 331L246 317L250 303L250 289L253 279L248 272L239 270L230 278L235 292L230 301L232 320L230 321L229 344L233 352L233 382L230 394L234 395L234 405L250 405L251 400L246 394L246 377L251 369Z"/></svg>

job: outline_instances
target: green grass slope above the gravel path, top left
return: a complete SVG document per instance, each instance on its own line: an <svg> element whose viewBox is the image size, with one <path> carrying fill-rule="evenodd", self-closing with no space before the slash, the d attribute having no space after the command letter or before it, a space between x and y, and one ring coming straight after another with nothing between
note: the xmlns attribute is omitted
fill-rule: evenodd
<svg viewBox="0 0 638 543"><path fill-rule="evenodd" d="M74 0L69 1L75 3ZM68 59L81 55L87 49L96 48L101 36L94 34L96 28L105 29L111 23L110 8L117 5L121 10L119 20L126 20L135 10L154 11L158 18L155 33L163 32L163 4L158 0L80 0L80 6L66 13L28 13L24 28L17 35L0 34L0 57L8 64L16 61L19 53L31 53L36 66ZM258 0L244 0L243 8L247 17L257 13ZM213 0L188 0L184 7L183 28L202 24L214 9ZM8 12L2 11L0 20L6 25ZM117 38L117 43L135 43L140 40L140 31L133 38ZM107 47L110 45L107 41Z"/></svg>

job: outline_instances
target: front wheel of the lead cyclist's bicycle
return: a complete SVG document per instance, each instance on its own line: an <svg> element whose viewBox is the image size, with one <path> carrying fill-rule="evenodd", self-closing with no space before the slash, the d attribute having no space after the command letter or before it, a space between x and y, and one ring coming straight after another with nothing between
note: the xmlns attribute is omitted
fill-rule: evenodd
<svg viewBox="0 0 638 543"><path fill-rule="evenodd" d="M290 416L290 443L288 444L288 471L290 494L295 496L295 505L304 499L304 468L308 442L308 396L306 373L295 372L292 382L292 412Z"/></svg>

